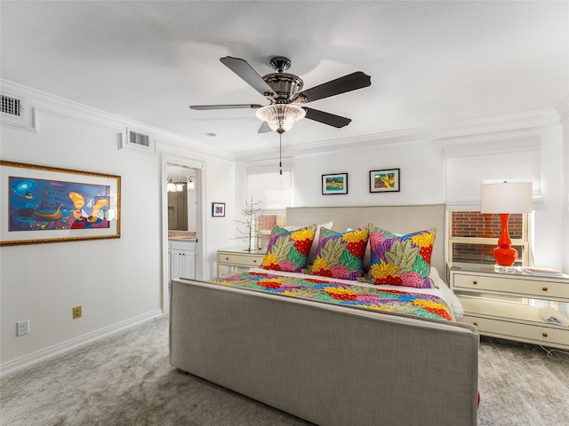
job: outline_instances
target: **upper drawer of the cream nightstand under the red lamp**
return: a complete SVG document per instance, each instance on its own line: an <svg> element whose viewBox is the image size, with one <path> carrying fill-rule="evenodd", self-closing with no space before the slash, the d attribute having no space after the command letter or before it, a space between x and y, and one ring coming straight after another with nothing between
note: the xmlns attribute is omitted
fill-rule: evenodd
<svg viewBox="0 0 569 426"><path fill-rule="evenodd" d="M537 299L569 299L569 285L548 280L533 280L530 277L520 279L519 277L502 278L454 273L453 288L534 297Z"/></svg>

